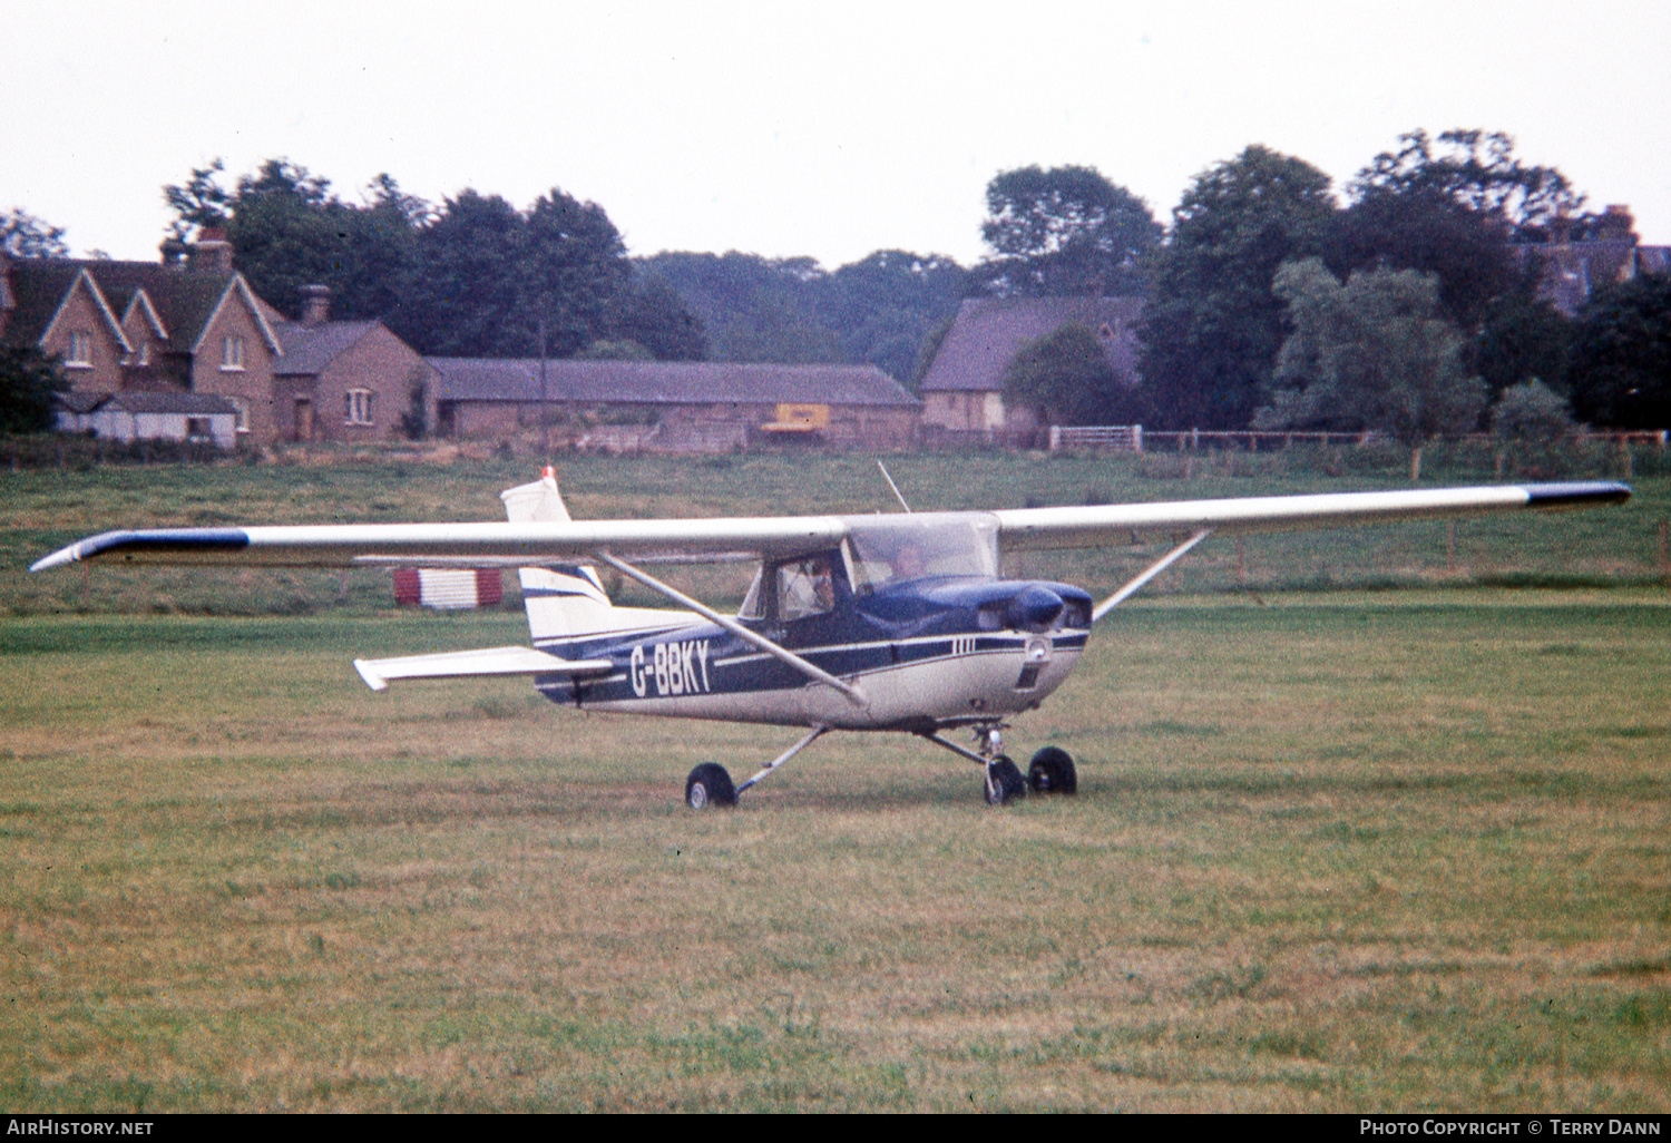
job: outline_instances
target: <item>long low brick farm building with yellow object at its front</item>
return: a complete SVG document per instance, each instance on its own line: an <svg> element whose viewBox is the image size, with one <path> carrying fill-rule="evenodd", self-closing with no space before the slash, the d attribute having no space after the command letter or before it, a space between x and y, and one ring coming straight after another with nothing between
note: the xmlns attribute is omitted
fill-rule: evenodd
<svg viewBox="0 0 1671 1143"><path fill-rule="evenodd" d="M428 358L443 436L553 424L580 448L906 448L922 406L876 366ZM541 381L543 371L543 381Z"/></svg>

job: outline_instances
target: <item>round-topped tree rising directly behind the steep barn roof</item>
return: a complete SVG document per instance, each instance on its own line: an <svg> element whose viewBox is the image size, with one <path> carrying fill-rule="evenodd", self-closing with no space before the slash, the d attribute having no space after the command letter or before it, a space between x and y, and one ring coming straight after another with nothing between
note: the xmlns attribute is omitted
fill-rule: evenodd
<svg viewBox="0 0 1671 1143"><path fill-rule="evenodd" d="M1160 242L1148 204L1093 167L1021 167L986 185L976 271L998 296L1138 294L1141 259Z"/></svg>

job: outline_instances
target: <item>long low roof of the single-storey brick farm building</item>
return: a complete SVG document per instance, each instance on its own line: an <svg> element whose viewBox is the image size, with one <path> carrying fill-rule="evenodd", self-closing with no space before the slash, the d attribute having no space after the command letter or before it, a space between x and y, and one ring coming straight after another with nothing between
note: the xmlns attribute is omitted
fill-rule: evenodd
<svg viewBox="0 0 1671 1143"><path fill-rule="evenodd" d="M439 401L538 401L538 358L424 358ZM546 396L585 404L921 404L876 366L546 361Z"/></svg>

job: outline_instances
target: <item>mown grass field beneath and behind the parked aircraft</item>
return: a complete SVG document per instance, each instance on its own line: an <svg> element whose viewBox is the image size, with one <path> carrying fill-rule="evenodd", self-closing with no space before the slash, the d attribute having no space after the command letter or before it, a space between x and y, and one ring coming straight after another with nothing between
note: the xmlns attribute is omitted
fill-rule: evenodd
<svg viewBox="0 0 1671 1143"><path fill-rule="evenodd" d="M884 508L869 465L565 480L576 515L777 511L797 478ZM889 465L919 506L1380 483ZM832 735L692 814L690 765L794 734L349 667L520 612L17 572L117 523L483 516L521 478L286 471L0 475L10 1111L1671 1108L1663 478L1186 561L1008 735L1069 749L1076 799L993 810L941 750ZM1278 590L1320 582L1350 590Z"/></svg>

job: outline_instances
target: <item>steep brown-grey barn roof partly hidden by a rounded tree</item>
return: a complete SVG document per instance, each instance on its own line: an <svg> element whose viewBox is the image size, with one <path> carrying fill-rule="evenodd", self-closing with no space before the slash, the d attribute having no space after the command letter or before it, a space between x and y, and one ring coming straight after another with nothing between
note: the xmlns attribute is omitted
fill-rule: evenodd
<svg viewBox="0 0 1671 1143"><path fill-rule="evenodd" d="M1004 368L1029 341L1063 326L1086 326L1108 353L1115 373L1136 376L1140 297L976 297L957 306L921 393L991 393L1004 388Z"/></svg>

